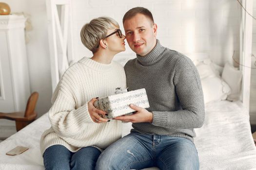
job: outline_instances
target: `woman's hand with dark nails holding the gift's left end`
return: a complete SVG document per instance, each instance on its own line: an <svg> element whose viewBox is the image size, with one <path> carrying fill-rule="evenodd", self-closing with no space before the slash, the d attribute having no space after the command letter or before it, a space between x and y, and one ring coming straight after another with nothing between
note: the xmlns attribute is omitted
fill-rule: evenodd
<svg viewBox="0 0 256 170"><path fill-rule="evenodd" d="M104 115L106 115L106 116L108 115L107 113L94 107L93 103L95 101L97 101L97 99L93 98L92 100L90 100L88 102L88 111L89 111L89 114L90 114L91 118L93 119L93 121L95 123L103 123L103 122L110 121L109 119L103 118Z"/></svg>

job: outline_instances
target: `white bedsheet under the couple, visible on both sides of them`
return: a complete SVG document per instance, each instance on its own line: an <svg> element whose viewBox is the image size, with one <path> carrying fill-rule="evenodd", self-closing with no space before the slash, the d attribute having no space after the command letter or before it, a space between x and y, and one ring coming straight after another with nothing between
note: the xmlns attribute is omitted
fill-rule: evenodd
<svg viewBox="0 0 256 170"><path fill-rule="evenodd" d="M125 127L130 126L125 124ZM0 143L0 170L43 170L39 150L41 134L50 127L47 114ZM127 134L129 130L124 130ZM195 144L200 170L256 170L256 147L249 115L240 102L211 102L206 105L205 123L196 129ZM16 146L28 151L8 156Z"/></svg>

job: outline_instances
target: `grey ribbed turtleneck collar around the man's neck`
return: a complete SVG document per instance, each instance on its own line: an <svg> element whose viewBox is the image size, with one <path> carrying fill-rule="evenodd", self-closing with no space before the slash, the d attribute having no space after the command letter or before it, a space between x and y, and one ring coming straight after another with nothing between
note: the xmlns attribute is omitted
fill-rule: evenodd
<svg viewBox="0 0 256 170"><path fill-rule="evenodd" d="M137 59L143 66L152 65L161 58L160 54L164 51L164 49L165 47L161 46L159 40L157 39L157 44L154 49L145 56L140 56L137 54Z"/></svg>

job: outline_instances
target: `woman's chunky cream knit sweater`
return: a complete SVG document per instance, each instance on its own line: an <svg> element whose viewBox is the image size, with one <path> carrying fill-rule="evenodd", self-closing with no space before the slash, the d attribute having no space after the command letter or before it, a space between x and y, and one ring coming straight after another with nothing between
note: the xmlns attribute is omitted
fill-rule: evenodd
<svg viewBox="0 0 256 170"><path fill-rule="evenodd" d="M53 94L49 110L52 126L41 137L41 153L57 144L71 152L86 146L105 149L121 138L121 121L95 123L87 108L92 98L112 95L117 87L124 89L126 78L123 67L115 61L106 65L84 57L68 68Z"/></svg>

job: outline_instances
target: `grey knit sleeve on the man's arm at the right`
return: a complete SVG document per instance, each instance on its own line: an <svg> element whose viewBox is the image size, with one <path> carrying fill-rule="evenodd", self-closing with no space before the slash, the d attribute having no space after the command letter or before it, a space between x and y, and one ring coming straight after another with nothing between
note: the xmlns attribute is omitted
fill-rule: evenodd
<svg viewBox="0 0 256 170"><path fill-rule="evenodd" d="M181 57L173 78L182 107L177 111L153 111L153 125L179 129L200 128L204 122L204 101L197 68L190 59Z"/></svg>

